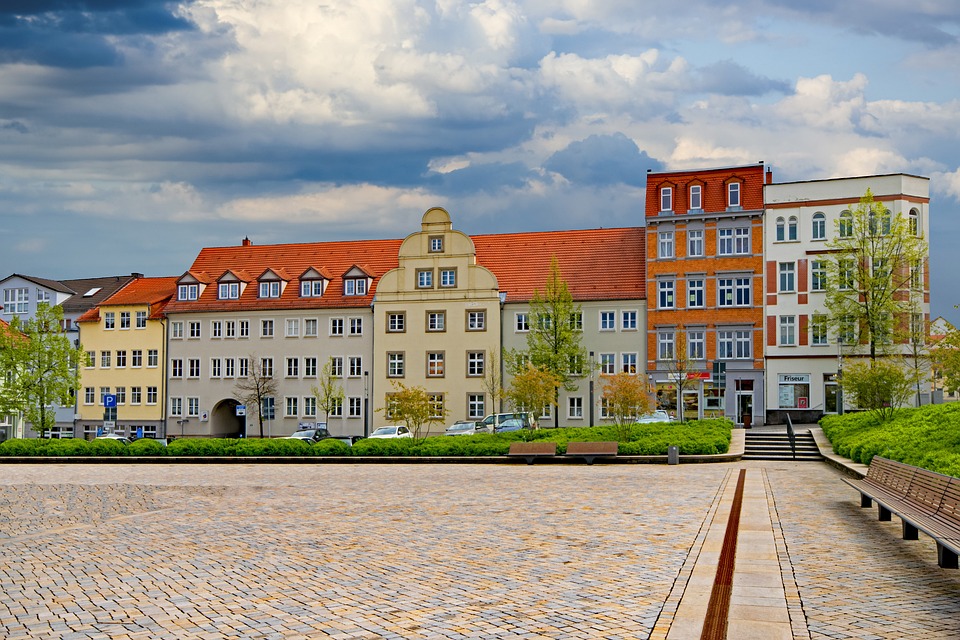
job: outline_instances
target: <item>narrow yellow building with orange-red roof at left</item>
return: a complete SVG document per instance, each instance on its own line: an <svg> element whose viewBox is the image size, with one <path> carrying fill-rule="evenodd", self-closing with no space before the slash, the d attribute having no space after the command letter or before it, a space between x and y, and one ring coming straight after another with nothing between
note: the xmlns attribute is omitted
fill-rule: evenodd
<svg viewBox="0 0 960 640"><path fill-rule="evenodd" d="M84 360L77 397L77 437L98 429L126 436L162 432L166 397L164 307L176 278L137 278L78 320ZM104 399L116 400L105 420ZM112 423L112 425L111 425Z"/></svg>

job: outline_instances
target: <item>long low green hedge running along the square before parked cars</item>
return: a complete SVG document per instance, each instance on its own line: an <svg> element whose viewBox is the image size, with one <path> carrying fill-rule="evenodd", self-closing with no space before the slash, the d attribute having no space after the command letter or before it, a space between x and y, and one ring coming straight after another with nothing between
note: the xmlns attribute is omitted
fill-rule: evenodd
<svg viewBox="0 0 960 640"><path fill-rule="evenodd" d="M629 438L620 443L622 455L666 455L676 445L680 453L715 454L730 450L733 423L726 419L638 424ZM0 443L0 456L502 456L518 440L546 440L557 443L565 453L573 441L617 440L614 427L584 427L513 431L475 436L436 436L417 442L412 438L366 438L352 447L339 440L309 444L287 438L180 438L169 446L149 438L124 445L114 440L65 438L14 439Z"/></svg>

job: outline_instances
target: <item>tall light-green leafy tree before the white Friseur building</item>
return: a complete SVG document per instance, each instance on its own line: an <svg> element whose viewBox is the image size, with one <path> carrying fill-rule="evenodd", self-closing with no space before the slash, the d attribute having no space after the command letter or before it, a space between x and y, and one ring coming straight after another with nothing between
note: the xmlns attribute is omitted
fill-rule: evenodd
<svg viewBox="0 0 960 640"><path fill-rule="evenodd" d="M868 345L871 360L888 351L896 322L911 311L911 290L927 243L903 215L893 215L868 189L844 212L827 243L827 322L844 342Z"/></svg>

